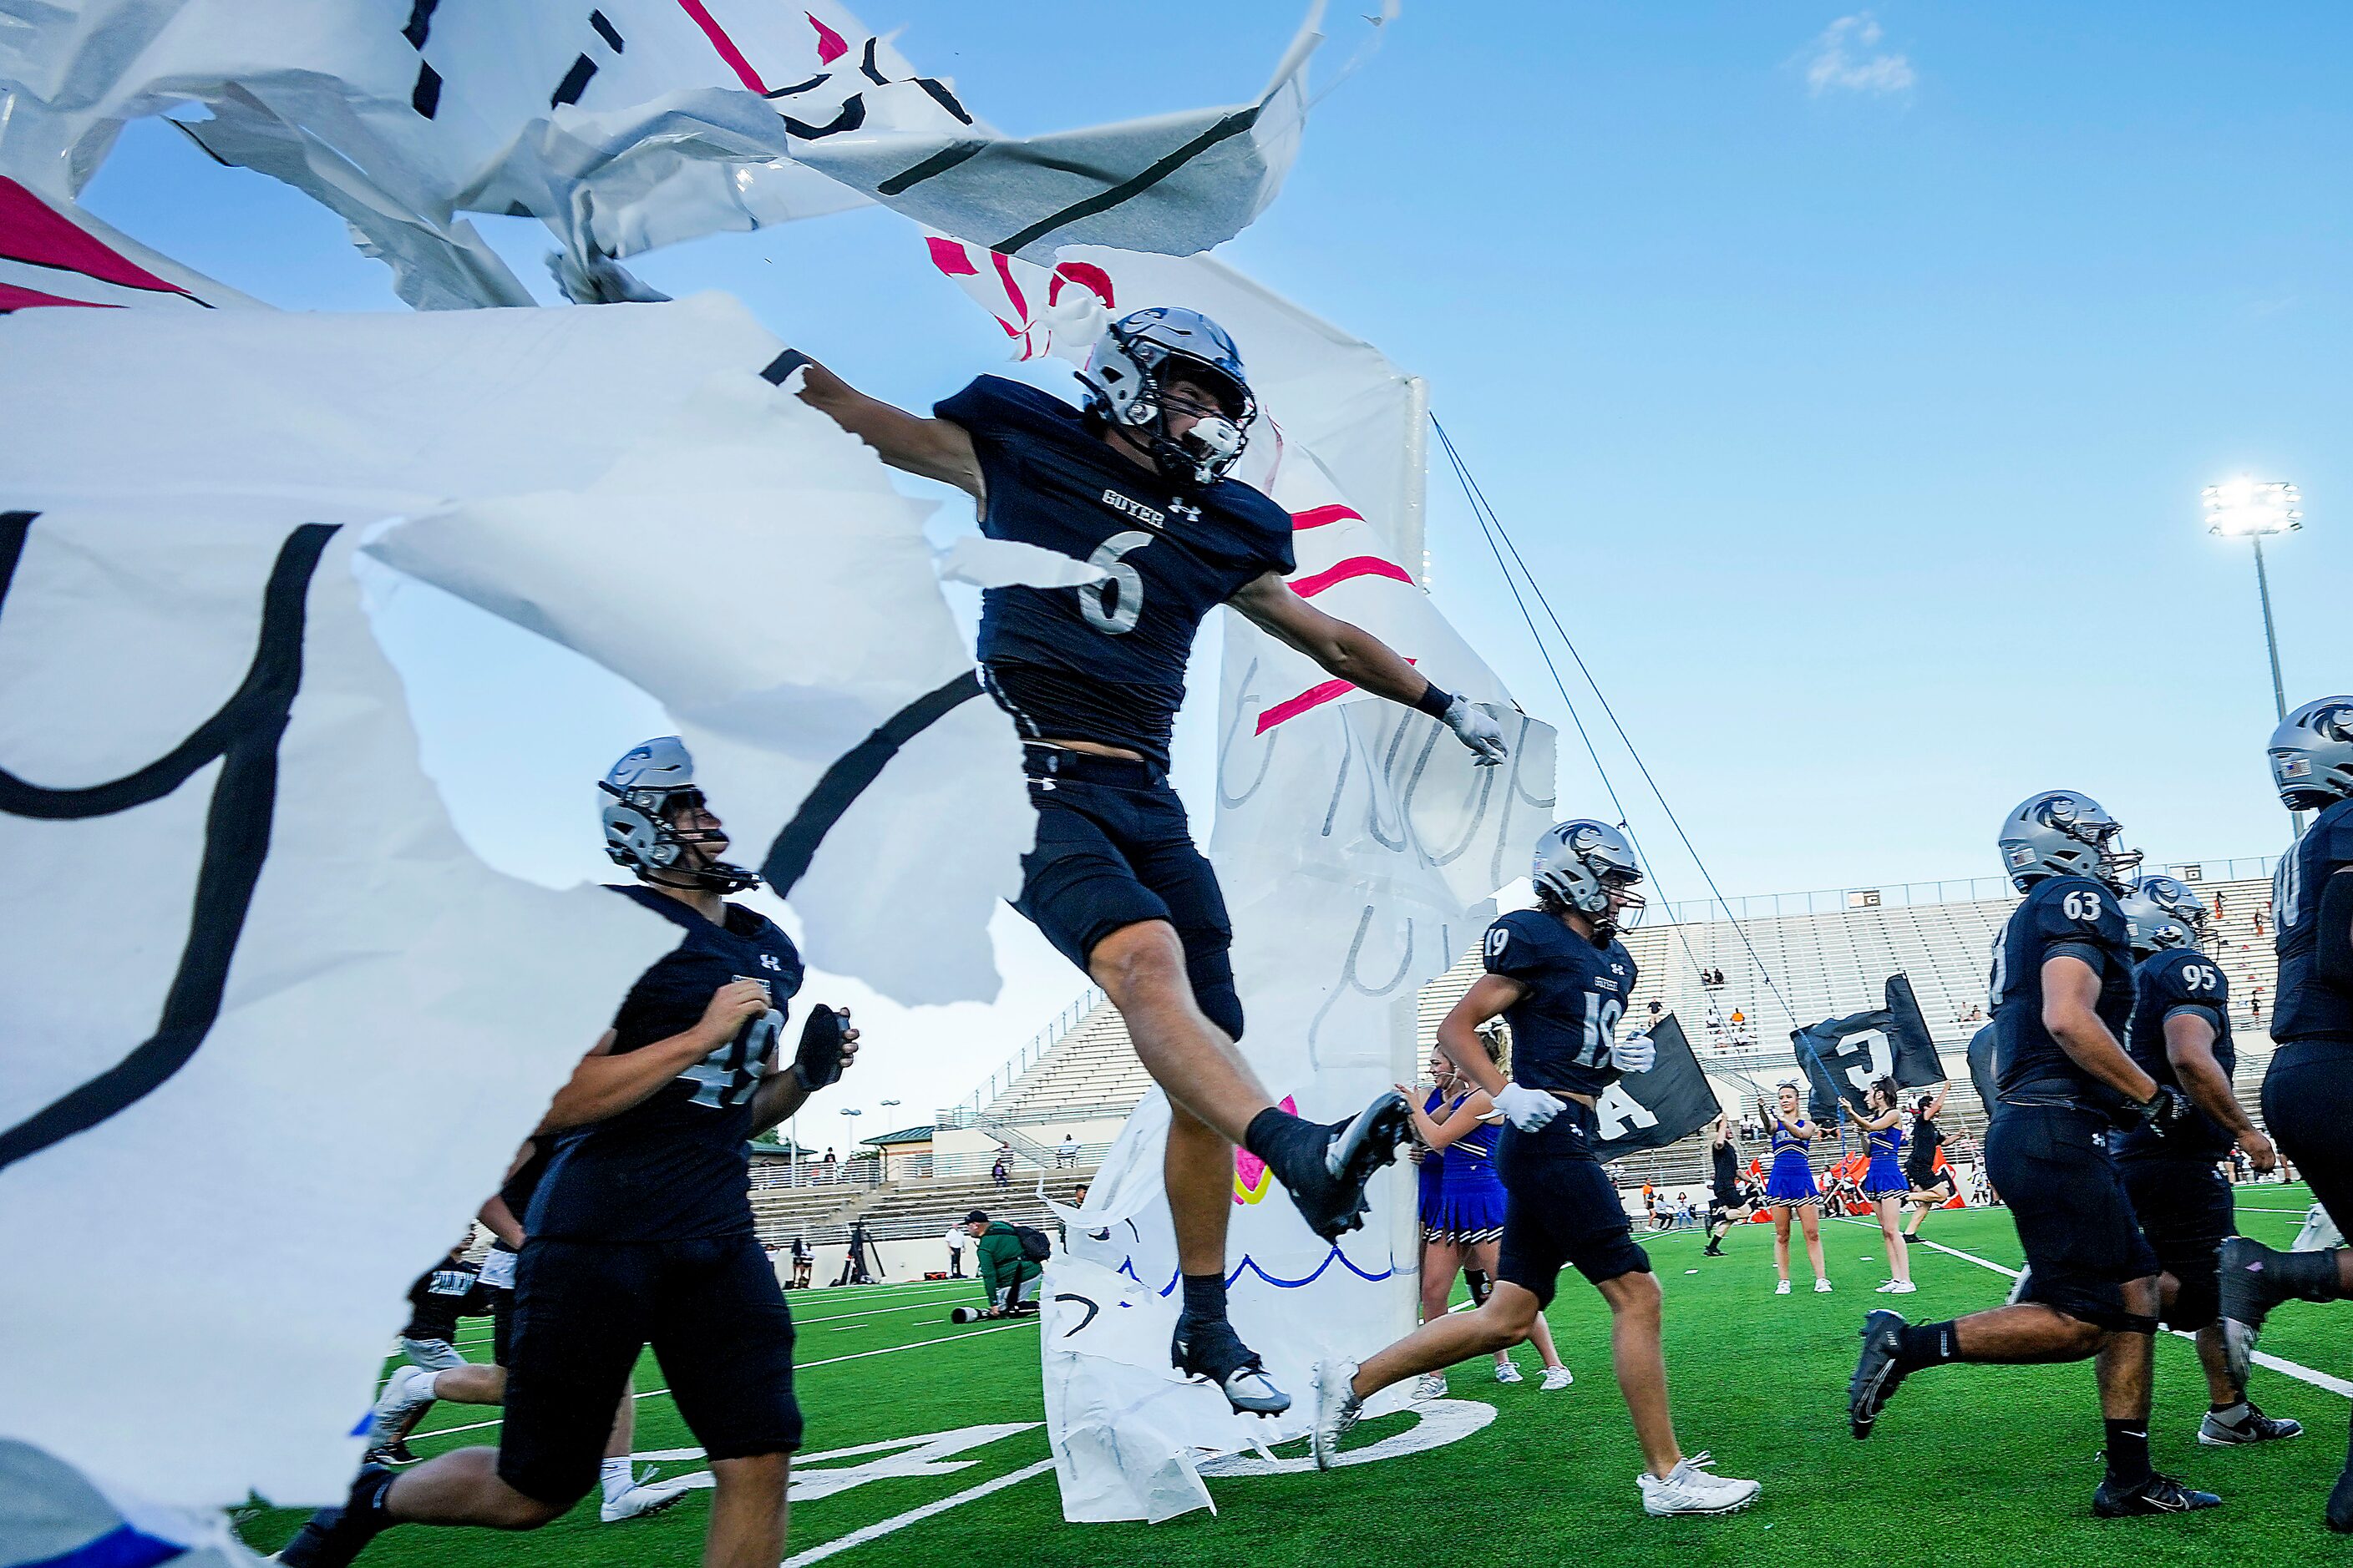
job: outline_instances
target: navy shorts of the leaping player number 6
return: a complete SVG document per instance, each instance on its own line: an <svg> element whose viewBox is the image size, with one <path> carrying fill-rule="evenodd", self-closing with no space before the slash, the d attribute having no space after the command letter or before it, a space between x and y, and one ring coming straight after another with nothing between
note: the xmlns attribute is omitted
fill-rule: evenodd
<svg viewBox="0 0 2353 1568"><path fill-rule="evenodd" d="M1169 922L1184 943L1200 1011L1240 1039L1226 896L1209 858L1193 846L1184 802L1167 776L1148 762L1047 745L1024 750L1038 844L1021 858L1014 907L1080 969L1120 926Z"/></svg>

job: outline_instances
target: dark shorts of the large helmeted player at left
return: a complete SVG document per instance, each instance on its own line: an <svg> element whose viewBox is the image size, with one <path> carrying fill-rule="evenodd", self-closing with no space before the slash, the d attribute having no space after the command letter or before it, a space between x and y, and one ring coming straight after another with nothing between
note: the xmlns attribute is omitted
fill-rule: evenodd
<svg viewBox="0 0 2353 1568"><path fill-rule="evenodd" d="M652 1345L713 1460L800 1448L793 1314L751 1234L696 1241L532 1237L515 1265L499 1479L548 1507L598 1481L614 1406Z"/></svg>

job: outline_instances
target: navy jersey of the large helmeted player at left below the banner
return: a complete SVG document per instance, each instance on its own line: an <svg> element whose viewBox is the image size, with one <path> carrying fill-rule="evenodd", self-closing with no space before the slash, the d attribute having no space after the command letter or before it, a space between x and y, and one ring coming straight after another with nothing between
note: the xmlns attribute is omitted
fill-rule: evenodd
<svg viewBox="0 0 2353 1568"><path fill-rule="evenodd" d="M727 905L727 924L715 926L652 889L614 891L685 931L621 1001L614 1056L685 1034L729 980L767 985L769 1011L638 1105L558 1133L522 1227L534 1239L569 1241L751 1234L751 1098L776 1070L784 1006L802 980L800 952L774 922L741 905Z"/></svg>

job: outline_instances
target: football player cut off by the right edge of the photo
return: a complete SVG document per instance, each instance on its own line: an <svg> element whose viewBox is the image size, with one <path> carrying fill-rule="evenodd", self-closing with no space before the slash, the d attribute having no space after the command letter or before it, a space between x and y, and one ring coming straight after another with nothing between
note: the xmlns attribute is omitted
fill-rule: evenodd
<svg viewBox="0 0 2353 1568"><path fill-rule="evenodd" d="M2264 1121L2344 1229L2353 1225L2353 696L2297 708L2271 731L2280 804L2320 816L2271 879L2280 999L2278 1051L2264 1070ZM2353 1248L2278 1253L2233 1237L2221 1248L2221 1326L2231 1375L2245 1385L2254 1335L2287 1300L2353 1295ZM2332 1530L2353 1533L2353 1446L2329 1493Z"/></svg>

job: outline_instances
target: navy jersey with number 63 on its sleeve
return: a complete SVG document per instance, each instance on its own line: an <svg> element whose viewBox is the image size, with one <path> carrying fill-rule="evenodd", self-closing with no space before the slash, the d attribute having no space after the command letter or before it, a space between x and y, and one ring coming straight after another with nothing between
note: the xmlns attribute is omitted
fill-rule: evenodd
<svg viewBox="0 0 2353 1568"><path fill-rule="evenodd" d="M2122 1095L2075 1065L2042 1027L2042 964L2082 959L2099 976L2092 1011L2118 1044L2132 1018L2132 943L2115 891L2089 877L2045 877L1993 943L1993 1084L2007 1103L2115 1112Z"/></svg>

